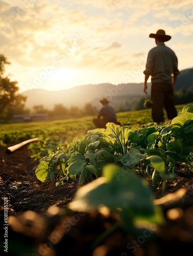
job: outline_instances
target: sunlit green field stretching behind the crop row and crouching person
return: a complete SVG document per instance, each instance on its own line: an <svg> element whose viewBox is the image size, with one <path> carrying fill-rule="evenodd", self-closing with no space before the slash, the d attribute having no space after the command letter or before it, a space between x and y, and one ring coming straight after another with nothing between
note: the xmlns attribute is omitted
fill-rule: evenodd
<svg viewBox="0 0 193 256"><path fill-rule="evenodd" d="M177 105L179 111L184 105ZM166 113L165 122L167 122ZM50 139L57 143L57 141L70 142L81 138L87 134L89 130L95 129L92 123L94 116L86 116L81 118L39 121L27 123L11 123L1 124L0 143L5 145L7 143L18 143L20 141L28 140L38 137L41 140ZM117 118L121 125L141 126L152 122L151 109L140 111L129 111L117 113Z"/></svg>

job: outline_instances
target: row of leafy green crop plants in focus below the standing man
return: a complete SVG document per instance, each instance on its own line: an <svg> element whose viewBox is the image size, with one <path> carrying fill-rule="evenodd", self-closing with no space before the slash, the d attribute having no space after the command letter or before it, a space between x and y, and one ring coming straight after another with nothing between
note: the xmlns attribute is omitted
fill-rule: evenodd
<svg viewBox="0 0 193 256"><path fill-rule="evenodd" d="M190 110L187 108L187 111ZM90 130L74 141L69 150L61 155L60 162L53 157L42 159L49 162L48 166L45 169L45 164L40 163L36 176L41 179L41 167L44 175L46 172L53 173L54 168L57 174L58 169L62 169L59 181L63 182L67 179L65 177L73 180L79 177L79 184L82 184L87 179L99 178L103 166L113 163L134 169L145 167L145 173L156 187L158 177L163 180L174 177L178 163L185 163L192 170L192 119L193 113L183 110L166 125L149 123L136 130L132 126L108 123L106 129ZM65 166L61 166L62 157L65 158ZM149 171L151 169L152 172ZM46 175L46 181L50 179L49 175Z"/></svg>

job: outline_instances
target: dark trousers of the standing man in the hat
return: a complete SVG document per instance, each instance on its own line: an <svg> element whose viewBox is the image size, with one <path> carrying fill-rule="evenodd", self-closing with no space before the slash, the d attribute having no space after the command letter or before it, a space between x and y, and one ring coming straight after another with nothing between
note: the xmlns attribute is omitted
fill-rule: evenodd
<svg viewBox="0 0 193 256"><path fill-rule="evenodd" d="M167 113L168 119L175 118L177 110L174 103L174 85L173 83L157 82L152 83L152 118L156 123L164 122L163 109Z"/></svg>

